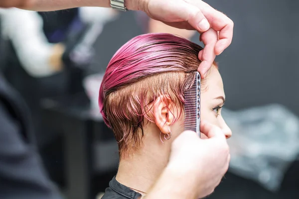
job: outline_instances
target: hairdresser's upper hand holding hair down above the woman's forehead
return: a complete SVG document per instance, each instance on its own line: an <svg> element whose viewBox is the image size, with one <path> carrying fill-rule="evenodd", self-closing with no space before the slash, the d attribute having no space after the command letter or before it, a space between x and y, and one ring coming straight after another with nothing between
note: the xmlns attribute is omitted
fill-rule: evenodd
<svg viewBox="0 0 299 199"><path fill-rule="evenodd" d="M133 0L135 1L135 0ZM210 69L213 54L219 55L232 41L233 21L220 11L217 11L202 0L138 0L139 7L145 11L149 17L162 21L167 25L197 30L199 33L207 31L209 28L219 32L217 42L212 43L207 40L206 44L214 45L214 48L205 50L201 57L203 62L199 66L199 72L204 77ZM211 35L210 35L211 34ZM208 32L206 37L214 37Z"/></svg>

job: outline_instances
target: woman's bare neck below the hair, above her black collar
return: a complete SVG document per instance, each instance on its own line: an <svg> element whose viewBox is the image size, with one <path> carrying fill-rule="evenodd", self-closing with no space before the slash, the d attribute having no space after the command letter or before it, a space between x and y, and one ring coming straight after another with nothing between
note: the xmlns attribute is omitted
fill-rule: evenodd
<svg viewBox="0 0 299 199"><path fill-rule="evenodd" d="M165 168L170 151L170 143L164 145L158 141L147 142L145 139L140 150L122 157L116 180L135 191L141 191L142 195L148 193Z"/></svg>

